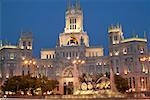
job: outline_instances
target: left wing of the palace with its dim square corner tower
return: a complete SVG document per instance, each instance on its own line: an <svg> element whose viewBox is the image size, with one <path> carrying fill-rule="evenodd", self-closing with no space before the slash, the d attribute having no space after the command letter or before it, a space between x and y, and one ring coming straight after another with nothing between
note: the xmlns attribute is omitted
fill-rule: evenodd
<svg viewBox="0 0 150 100"><path fill-rule="evenodd" d="M8 42L0 46L0 78L4 82L15 75L31 74L31 66L22 67L23 58L32 59L32 33L22 32L19 43L11 45Z"/></svg>

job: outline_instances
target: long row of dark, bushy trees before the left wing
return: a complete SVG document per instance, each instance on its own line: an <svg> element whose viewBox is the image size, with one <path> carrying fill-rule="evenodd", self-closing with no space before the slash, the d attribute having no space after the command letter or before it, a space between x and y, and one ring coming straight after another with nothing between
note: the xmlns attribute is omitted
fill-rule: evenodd
<svg viewBox="0 0 150 100"><path fill-rule="evenodd" d="M47 77L31 77L26 76L13 76L7 79L2 86L2 91L11 91L17 93L18 91L23 91L24 94L27 91L31 91L34 95L34 90L41 88L42 93L53 90L58 84L57 80L48 80Z"/></svg>

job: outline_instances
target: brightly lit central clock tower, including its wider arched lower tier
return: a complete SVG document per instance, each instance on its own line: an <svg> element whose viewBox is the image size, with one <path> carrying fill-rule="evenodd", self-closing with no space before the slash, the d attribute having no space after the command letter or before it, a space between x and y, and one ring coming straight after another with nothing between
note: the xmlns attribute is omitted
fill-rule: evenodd
<svg viewBox="0 0 150 100"><path fill-rule="evenodd" d="M71 5L70 0L68 0L65 28L64 32L60 33L59 42L60 47L80 46L81 42L84 42L85 46L89 46L88 35L83 30L83 12L79 0L76 0L75 5Z"/></svg>

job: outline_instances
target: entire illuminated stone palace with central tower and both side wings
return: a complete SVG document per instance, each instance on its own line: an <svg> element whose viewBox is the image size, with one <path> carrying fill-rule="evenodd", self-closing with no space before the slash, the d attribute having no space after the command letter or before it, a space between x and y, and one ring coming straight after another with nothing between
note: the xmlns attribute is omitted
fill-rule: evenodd
<svg viewBox="0 0 150 100"><path fill-rule="evenodd" d="M56 47L41 49L40 58L33 59L32 36L24 33L17 46L1 46L0 77L5 80L13 75L47 76L59 81L56 93L73 94L80 88L78 77L83 73L105 76L111 66L116 75L128 79L129 91L150 90L146 37L125 39L121 25L111 25L108 29L109 55L104 56L102 47L90 45L83 26L79 0L75 5L68 2L64 32L59 34Z"/></svg>

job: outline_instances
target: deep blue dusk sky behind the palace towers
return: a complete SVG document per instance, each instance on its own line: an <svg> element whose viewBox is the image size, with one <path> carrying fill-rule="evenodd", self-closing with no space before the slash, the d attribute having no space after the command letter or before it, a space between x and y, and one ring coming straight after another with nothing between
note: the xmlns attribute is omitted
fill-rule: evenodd
<svg viewBox="0 0 150 100"><path fill-rule="evenodd" d="M75 0L71 0L72 3ZM41 48L54 48L64 31L66 0L0 0L0 32L2 39L16 44L21 30L32 31L34 55ZM90 44L108 52L111 24L120 23L125 37L133 33L150 36L150 0L80 0L84 12L84 30Z"/></svg>

